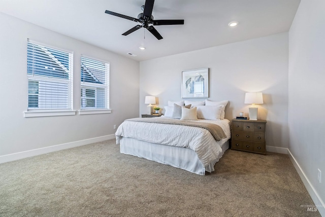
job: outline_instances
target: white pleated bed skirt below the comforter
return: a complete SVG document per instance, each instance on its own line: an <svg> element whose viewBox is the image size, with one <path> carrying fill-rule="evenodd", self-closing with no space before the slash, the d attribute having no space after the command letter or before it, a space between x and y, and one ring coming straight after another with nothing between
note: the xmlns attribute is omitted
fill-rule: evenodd
<svg viewBox="0 0 325 217"><path fill-rule="evenodd" d="M228 140L222 143L221 149L223 155L229 149ZM222 157L220 155L220 158L215 159L208 166L204 167L197 154L191 149L155 144L126 137L120 139L120 152L184 169L199 175L205 175L205 171L214 171L215 163Z"/></svg>

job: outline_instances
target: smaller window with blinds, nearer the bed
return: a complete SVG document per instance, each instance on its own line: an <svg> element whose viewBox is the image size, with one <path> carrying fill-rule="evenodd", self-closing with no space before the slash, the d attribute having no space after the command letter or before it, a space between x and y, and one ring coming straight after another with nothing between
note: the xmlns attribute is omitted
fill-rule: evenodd
<svg viewBox="0 0 325 217"><path fill-rule="evenodd" d="M109 108L109 63L81 57L81 109Z"/></svg>

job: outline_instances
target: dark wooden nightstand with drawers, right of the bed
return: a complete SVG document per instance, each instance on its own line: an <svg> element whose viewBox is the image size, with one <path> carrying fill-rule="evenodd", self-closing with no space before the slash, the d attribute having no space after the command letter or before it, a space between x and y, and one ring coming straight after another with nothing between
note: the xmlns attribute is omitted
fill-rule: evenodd
<svg viewBox="0 0 325 217"><path fill-rule="evenodd" d="M266 123L266 120L233 119L232 149L265 155Z"/></svg>

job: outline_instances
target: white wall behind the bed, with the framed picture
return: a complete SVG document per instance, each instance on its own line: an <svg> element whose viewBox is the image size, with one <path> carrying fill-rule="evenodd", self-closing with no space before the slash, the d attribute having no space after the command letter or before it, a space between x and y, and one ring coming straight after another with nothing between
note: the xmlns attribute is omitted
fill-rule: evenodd
<svg viewBox="0 0 325 217"><path fill-rule="evenodd" d="M262 91L258 119L268 121L267 146L287 148L287 33L140 62L140 113L146 114L146 95L157 96L160 107L181 100L181 71L204 67L210 73L209 99L230 100L227 119L241 111L248 116L245 92Z"/></svg>

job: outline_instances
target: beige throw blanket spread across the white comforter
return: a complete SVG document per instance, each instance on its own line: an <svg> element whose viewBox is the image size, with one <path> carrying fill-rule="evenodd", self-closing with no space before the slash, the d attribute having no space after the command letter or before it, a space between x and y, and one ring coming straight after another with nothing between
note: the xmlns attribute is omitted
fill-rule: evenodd
<svg viewBox="0 0 325 217"><path fill-rule="evenodd" d="M186 120L179 120L179 119L160 119L160 118L132 118L132 119L126 119L125 121L136 121L136 122L147 122L147 123L158 123L158 124L176 124L176 125L183 125L183 126L190 126L190 127L200 127L208 130L216 141L226 138L226 135L223 132L222 128L219 125L211 124L211 123L198 122L198 121L186 121Z"/></svg>

